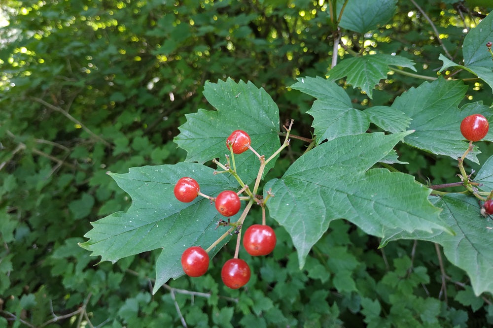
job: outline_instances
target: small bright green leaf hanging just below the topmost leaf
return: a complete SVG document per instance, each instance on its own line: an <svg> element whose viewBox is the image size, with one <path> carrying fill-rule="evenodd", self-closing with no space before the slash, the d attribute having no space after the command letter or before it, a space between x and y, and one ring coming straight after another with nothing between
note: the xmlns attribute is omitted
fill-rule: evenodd
<svg viewBox="0 0 493 328"><path fill-rule="evenodd" d="M413 61L405 57L377 54L341 61L329 71L329 79L334 81L347 76L347 83L361 88L369 98L372 98L375 85L387 77L389 65L408 67L416 71Z"/></svg>

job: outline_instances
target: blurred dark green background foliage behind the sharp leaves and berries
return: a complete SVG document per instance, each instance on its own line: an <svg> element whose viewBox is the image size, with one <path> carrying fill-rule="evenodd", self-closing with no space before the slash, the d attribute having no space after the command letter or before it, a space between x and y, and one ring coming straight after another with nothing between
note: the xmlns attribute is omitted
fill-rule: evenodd
<svg viewBox="0 0 493 328"><path fill-rule="evenodd" d="M460 58L467 29L486 11L468 2L416 2L426 16L399 1L387 25L364 35L343 30L343 42L355 52L398 54L417 63L417 74L436 76L443 48L427 18L443 47ZM433 244L397 241L378 250L379 240L343 221L331 225L302 271L289 236L276 228L273 255L248 260L256 274L239 291L217 279L231 245L205 276L172 280L155 295L156 252L112 265L77 246L91 221L130 205L107 170L185 158L173 137L184 114L209 106L202 97L207 80L253 81L279 105L282 123L293 118L293 133L311 137L310 117L302 114L313 100L286 86L328 72L334 31L327 6L323 0L3 0L0 327L493 325L491 295L476 297L464 272L438 257ZM372 99L345 87L354 106L365 108L388 105L420 83L394 72ZM469 101L491 102L488 86L468 83ZM304 147L293 140L269 176L280 176ZM406 146L398 153L410 163L399 168L419 181L455 181L447 158Z"/></svg>

